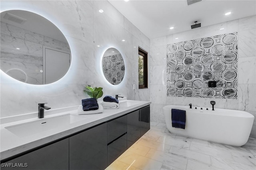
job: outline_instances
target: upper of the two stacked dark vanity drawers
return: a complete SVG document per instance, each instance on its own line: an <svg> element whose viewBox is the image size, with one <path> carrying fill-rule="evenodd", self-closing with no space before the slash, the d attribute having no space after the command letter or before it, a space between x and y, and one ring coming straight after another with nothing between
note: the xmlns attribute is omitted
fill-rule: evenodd
<svg viewBox="0 0 256 170"><path fill-rule="evenodd" d="M108 122L108 143L127 131L127 115Z"/></svg>

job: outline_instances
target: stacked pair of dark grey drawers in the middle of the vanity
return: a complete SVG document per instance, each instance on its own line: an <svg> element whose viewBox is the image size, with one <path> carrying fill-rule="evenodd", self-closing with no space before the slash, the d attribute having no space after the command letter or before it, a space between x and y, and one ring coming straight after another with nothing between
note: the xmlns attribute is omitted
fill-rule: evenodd
<svg viewBox="0 0 256 170"><path fill-rule="evenodd" d="M127 115L108 122L108 165L127 149Z"/></svg>

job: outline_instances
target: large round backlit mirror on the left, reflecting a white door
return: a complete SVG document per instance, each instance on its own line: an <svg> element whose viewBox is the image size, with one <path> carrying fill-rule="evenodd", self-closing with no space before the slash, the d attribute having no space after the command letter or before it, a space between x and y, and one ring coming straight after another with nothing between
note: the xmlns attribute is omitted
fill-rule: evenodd
<svg viewBox="0 0 256 170"><path fill-rule="evenodd" d="M61 79L71 53L62 32L46 18L24 10L0 14L0 68L24 83L42 85Z"/></svg>

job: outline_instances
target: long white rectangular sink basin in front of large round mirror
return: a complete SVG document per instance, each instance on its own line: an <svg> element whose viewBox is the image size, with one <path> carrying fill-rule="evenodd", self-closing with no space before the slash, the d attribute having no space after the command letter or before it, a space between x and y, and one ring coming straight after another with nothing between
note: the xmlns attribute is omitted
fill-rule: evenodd
<svg viewBox="0 0 256 170"><path fill-rule="evenodd" d="M25 136L40 133L43 131L51 130L53 128L66 126L66 125L81 121L83 119L86 119L86 118L80 117L78 115L66 114L66 115L60 115L56 117L40 119L40 120L28 122L28 123L12 125L5 128L18 137L25 137Z"/></svg>

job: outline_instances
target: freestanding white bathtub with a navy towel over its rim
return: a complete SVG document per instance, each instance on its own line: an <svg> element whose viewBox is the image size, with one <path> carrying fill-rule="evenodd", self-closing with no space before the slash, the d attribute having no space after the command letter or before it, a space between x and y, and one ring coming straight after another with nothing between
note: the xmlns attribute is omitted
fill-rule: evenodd
<svg viewBox="0 0 256 170"><path fill-rule="evenodd" d="M185 129L172 127L171 109L186 111ZM249 138L254 116L245 111L230 109L214 109L167 105L164 107L164 117L171 133L208 140L232 146L242 146Z"/></svg>

